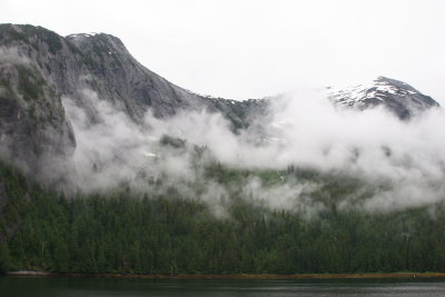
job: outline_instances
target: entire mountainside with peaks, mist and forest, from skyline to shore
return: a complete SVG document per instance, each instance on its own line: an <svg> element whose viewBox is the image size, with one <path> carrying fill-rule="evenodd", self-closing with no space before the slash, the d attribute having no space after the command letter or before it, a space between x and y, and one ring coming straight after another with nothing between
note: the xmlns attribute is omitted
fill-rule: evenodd
<svg viewBox="0 0 445 297"><path fill-rule="evenodd" d="M443 271L436 107L383 77L209 98L116 37L1 24L0 271Z"/></svg>

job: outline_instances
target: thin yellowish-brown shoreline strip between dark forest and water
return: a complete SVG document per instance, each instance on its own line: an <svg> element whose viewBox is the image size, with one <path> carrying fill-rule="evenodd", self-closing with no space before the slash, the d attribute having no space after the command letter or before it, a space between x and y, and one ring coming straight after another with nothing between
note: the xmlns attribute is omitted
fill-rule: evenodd
<svg viewBox="0 0 445 297"><path fill-rule="evenodd" d="M384 279L384 278L445 278L445 273L374 273L374 274L300 274L300 275L139 275L81 274L49 271L6 271L2 276L32 277L113 277L146 279Z"/></svg>

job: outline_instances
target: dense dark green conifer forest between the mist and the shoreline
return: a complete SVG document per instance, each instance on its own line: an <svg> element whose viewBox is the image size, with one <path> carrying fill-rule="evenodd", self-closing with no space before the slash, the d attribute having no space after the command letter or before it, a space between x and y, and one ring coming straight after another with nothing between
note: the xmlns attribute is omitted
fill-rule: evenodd
<svg viewBox="0 0 445 297"><path fill-rule="evenodd" d="M208 170L222 184L249 175L220 165ZM353 189L338 180L326 187L338 195ZM228 216L217 218L206 204L174 189L65 198L1 164L0 270L322 274L445 267L442 204L390 214L327 208L310 219L239 196L226 208Z"/></svg>

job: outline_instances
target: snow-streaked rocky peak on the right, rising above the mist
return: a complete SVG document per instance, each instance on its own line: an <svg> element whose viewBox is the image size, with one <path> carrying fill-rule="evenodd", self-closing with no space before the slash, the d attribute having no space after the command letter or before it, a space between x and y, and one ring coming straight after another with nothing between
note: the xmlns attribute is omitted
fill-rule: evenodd
<svg viewBox="0 0 445 297"><path fill-rule="evenodd" d="M431 97L425 96L409 85L385 77L378 77L370 85L359 85L343 90L332 90L334 105L365 110L378 106L385 107L402 120L408 120L423 111L438 107Z"/></svg>

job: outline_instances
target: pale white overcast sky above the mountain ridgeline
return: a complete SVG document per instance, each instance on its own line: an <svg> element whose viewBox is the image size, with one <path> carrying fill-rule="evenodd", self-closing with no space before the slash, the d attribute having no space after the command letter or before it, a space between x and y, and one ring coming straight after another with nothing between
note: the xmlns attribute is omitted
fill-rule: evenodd
<svg viewBox="0 0 445 297"><path fill-rule="evenodd" d="M403 80L445 101L442 0L1 0L0 22L119 37L147 68L234 99Z"/></svg>

